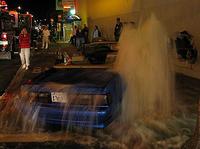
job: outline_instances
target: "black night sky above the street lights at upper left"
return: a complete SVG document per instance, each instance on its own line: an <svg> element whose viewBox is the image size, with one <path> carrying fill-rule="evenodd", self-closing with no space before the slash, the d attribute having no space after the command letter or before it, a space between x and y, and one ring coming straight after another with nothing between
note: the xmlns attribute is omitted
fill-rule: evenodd
<svg viewBox="0 0 200 149"><path fill-rule="evenodd" d="M49 19L55 13L55 0L6 0L8 8L17 9L22 7L22 11L29 11L37 19Z"/></svg>

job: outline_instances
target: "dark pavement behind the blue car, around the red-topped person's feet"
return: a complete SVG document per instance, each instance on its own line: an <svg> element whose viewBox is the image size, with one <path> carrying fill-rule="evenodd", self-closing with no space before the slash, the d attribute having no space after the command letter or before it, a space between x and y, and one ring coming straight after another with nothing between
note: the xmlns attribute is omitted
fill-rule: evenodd
<svg viewBox="0 0 200 149"><path fill-rule="evenodd" d="M31 79L40 72L45 71L55 65L59 55L62 55L64 52L72 55L73 53L76 53L76 48L66 43L60 43L52 44L48 50L31 50L30 69L23 74L23 81ZM21 72L19 69L20 67L21 64L19 55L15 55L14 59L12 60L0 60L0 95L5 92L9 84L10 87L13 86L11 81L18 70L18 73Z"/></svg>

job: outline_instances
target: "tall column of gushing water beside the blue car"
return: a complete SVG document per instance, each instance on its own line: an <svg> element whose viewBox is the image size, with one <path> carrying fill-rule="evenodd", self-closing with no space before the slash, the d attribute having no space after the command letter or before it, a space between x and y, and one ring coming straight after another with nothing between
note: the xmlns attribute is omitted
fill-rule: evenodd
<svg viewBox="0 0 200 149"><path fill-rule="evenodd" d="M167 41L167 34L154 15L138 28L124 26L114 67L126 86L123 121L170 115L174 78Z"/></svg>

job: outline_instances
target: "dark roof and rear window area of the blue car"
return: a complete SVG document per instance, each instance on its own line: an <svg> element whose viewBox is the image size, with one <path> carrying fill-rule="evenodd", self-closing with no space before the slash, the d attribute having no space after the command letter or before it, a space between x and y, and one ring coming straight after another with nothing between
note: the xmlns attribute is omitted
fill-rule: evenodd
<svg viewBox="0 0 200 149"><path fill-rule="evenodd" d="M56 69L41 73L33 82L36 84L54 82L75 85L87 84L103 87L118 74L106 69Z"/></svg>

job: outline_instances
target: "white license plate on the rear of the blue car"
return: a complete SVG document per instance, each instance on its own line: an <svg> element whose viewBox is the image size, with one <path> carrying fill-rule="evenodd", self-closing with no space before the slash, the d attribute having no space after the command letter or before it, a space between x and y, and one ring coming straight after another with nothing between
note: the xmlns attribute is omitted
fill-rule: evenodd
<svg viewBox="0 0 200 149"><path fill-rule="evenodd" d="M67 103L67 95L62 92L52 92L51 93L51 101Z"/></svg>

